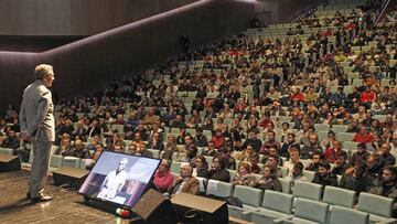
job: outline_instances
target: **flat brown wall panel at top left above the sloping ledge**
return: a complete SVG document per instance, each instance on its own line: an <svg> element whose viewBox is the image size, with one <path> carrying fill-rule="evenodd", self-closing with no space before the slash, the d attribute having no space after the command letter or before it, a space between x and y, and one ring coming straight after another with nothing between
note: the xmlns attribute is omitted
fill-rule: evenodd
<svg viewBox="0 0 397 224"><path fill-rule="evenodd" d="M0 34L92 35L198 0L0 0Z"/></svg>

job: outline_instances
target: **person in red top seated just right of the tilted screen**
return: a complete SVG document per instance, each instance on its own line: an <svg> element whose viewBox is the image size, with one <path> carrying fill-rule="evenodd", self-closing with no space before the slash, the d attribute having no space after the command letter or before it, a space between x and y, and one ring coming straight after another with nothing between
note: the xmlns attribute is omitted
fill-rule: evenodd
<svg viewBox="0 0 397 224"><path fill-rule="evenodd" d="M162 159L157 172L154 173L153 183L161 193L165 193L173 184L174 178L170 172L170 168L171 160Z"/></svg>

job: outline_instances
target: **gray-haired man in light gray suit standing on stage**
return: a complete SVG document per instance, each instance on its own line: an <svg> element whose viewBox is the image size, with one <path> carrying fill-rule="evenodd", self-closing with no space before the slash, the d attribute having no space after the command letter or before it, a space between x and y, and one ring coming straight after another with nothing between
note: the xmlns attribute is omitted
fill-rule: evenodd
<svg viewBox="0 0 397 224"><path fill-rule="evenodd" d="M23 92L20 110L21 139L33 146L33 164L29 180L28 199L32 203L52 200L43 194L47 179L51 146L55 140L54 105L49 87L54 78L53 67L41 64L34 70L34 83Z"/></svg>

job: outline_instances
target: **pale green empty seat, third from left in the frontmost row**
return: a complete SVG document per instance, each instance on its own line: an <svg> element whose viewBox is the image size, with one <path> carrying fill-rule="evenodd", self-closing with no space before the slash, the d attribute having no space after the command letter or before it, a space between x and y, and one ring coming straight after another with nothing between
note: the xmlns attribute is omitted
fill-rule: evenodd
<svg viewBox="0 0 397 224"><path fill-rule="evenodd" d="M261 207L250 212L250 221L258 224L272 223L273 220L292 214L293 196L277 191L265 191Z"/></svg>

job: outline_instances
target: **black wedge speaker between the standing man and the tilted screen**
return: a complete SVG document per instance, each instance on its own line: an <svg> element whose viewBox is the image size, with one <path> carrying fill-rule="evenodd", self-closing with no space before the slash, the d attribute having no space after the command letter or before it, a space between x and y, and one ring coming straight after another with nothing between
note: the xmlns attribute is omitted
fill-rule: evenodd
<svg viewBox="0 0 397 224"><path fill-rule="evenodd" d="M71 186L78 189L84 183L88 173L88 170L62 167L53 171L54 184L71 184Z"/></svg>

